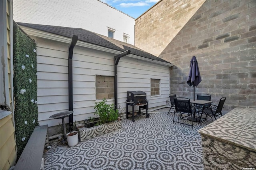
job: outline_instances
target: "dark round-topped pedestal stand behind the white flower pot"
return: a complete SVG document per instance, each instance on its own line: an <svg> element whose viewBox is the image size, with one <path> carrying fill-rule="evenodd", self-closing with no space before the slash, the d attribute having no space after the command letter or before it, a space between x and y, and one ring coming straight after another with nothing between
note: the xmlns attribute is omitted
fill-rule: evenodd
<svg viewBox="0 0 256 170"><path fill-rule="evenodd" d="M65 112L60 112L56 113L49 118L54 118L54 119L62 119L62 127L63 127L63 139L57 144L58 146L64 146L68 144L67 141L67 132L66 132L66 126L65 126L65 120L64 118L68 117L70 114L72 114L74 111L65 111Z"/></svg>

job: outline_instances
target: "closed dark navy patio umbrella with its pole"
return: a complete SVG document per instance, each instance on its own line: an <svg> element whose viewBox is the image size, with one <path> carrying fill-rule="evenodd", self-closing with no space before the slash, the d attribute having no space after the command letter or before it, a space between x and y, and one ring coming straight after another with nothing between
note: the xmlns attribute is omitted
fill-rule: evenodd
<svg viewBox="0 0 256 170"><path fill-rule="evenodd" d="M196 56L193 56L190 60L190 71L188 74L187 83L189 86L194 86L194 100L195 100L195 87L202 81Z"/></svg>

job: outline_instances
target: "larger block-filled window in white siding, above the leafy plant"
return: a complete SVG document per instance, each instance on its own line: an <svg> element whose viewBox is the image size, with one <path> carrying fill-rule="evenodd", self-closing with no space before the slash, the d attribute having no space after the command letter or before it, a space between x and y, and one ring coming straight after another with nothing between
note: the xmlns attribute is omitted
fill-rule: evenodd
<svg viewBox="0 0 256 170"><path fill-rule="evenodd" d="M96 75L96 99L114 98L114 76Z"/></svg>

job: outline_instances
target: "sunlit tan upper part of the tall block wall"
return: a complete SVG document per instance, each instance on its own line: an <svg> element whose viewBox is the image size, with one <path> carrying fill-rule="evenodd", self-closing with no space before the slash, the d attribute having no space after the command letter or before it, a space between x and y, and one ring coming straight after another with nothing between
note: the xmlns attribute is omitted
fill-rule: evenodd
<svg viewBox="0 0 256 170"><path fill-rule="evenodd" d="M158 56L205 0L160 0L135 20L135 46Z"/></svg>

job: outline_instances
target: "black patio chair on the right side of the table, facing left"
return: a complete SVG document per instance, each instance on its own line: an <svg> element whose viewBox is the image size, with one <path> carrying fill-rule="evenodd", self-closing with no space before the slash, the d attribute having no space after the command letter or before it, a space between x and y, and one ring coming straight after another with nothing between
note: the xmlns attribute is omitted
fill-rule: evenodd
<svg viewBox="0 0 256 170"><path fill-rule="evenodd" d="M215 118L216 120L216 116L222 116L222 108L224 106L224 102L226 100L226 97L222 97L220 99L220 102L217 105L214 105L214 104L210 104L210 107L208 106L204 106L202 108L202 114L206 114L206 117L204 120L207 120L207 117L210 116L212 118L212 116ZM202 114L200 116L200 118L202 118ZM202 121L201 121L202 123Z"/></svg>

